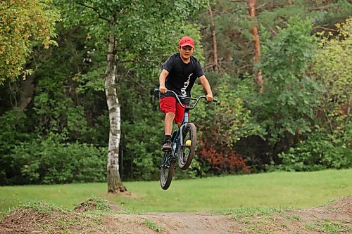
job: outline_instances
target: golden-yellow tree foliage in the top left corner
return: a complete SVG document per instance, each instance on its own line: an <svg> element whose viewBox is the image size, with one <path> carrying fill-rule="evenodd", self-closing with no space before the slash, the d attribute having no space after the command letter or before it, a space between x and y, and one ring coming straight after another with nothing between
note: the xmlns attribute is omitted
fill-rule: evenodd
<svg viewBox="0 0 352 234"><path fill-rule="evenodd" d="M50 8L51 0L0 1L0 84L14 80L21 73L25 79L31 70L23 70L31 53L32 39L45 48L56 45L55 22L58 11Z"/></svg>

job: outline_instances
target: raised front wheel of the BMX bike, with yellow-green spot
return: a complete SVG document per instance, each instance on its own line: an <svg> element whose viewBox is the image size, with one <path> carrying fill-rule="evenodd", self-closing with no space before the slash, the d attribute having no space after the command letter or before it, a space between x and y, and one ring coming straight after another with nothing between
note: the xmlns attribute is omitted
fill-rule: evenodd
<svg viewBox="0 0 352 234"><path fill-rule="evenodd" d="M182 135L183 142L180 143L177 157L180 169L185 170L189 168L189 165L191 165L194 152L196 152L196 125L192 123L186 124L182 131ZM189 147L185 146L187 140L191 140L191 145Z"/></svg>

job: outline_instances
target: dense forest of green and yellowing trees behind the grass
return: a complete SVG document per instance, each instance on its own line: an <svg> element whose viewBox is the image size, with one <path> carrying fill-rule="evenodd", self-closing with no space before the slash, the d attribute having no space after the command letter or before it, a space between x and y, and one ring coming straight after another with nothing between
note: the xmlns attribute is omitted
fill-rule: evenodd
<svg viewBox="0 0 352 234"><path fill-rule="evenodd" d="M0 185L106 181L110 55L120 177L157 180L152 90L185 35L220 101L191 112L198 150L175 176L351 168L351 1L251 2L1 1Z"/></svg>

